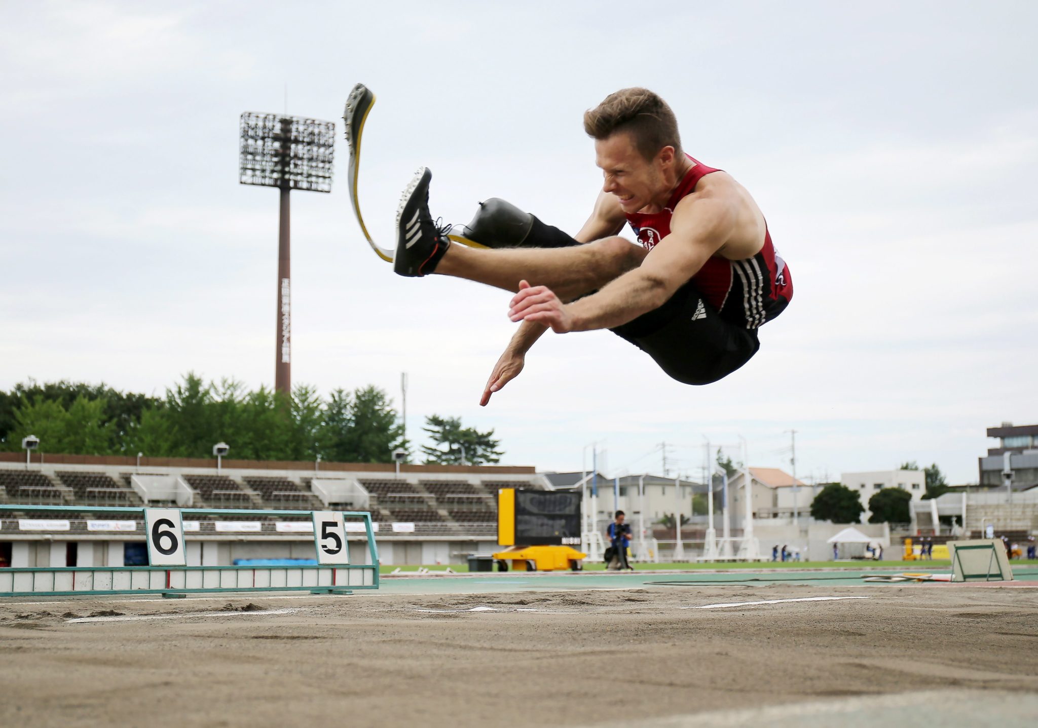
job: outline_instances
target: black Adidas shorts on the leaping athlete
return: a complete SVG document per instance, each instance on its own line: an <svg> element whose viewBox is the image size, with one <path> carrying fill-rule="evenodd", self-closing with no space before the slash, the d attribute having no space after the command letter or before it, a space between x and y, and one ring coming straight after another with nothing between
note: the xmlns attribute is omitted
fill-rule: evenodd
<svg viewBox="0 0 1038 728"><path fill-rule="evenodd" d="M691 282L659 308L610 331L652 357L668 376L688 385L728 376L761 347L756 329L721 318Z"/></svg>

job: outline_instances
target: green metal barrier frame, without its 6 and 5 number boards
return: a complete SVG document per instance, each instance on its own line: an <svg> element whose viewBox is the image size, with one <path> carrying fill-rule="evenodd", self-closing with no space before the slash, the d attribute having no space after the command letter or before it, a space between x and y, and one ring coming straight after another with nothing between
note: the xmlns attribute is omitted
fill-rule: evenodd
<svg viewBox="0 0 1038 728"><path fill-rule="evenodd" d="M146 507L88 507L0 505L0 517L12 513L134 513L144 522ZM291 515L310 510L258 510L242 508L179 508L182 515ZM354 589L379 588L379 552L367 511L336 511L344 517L361 517L367 536L370 564L301 564L284 566L28 566L0 568L3 596L99 596L109 594L187 594L219 592L309 591L350 594ZM344 534L348 538L348 534ZM144 529L151 547L152 534ZM70 540L75 540L70 538ZM345 543L344 543L345 545ZM317 549L315 539L315 549Z"/></svg>

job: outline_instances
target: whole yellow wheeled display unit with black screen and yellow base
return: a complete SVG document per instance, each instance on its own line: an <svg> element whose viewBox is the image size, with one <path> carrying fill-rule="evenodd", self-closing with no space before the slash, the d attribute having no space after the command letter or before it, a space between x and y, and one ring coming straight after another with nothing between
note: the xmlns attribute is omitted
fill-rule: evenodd
<svg viewBox="0 0 1038 728"><path fill-rule="evenodd" d="M516 571L579 571L588 555L569 543L580 543L580 494L500 488L497 542L509 549L494 558Z"/></svg>

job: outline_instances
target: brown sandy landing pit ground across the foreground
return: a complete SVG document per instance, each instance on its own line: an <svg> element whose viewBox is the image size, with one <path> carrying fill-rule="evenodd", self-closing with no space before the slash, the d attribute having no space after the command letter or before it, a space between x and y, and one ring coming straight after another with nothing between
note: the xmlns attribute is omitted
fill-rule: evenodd
<svg viewBox="0 0 1038 728"><path fill-rule="evenodd" d="M811 596L868 598L680 609ZM1035 588L29 601L0 600L2 726L887 726L939 716L943 726L995 716L1015 726L1038 715ZM475 607L494 611L439 611ZM91 616L153 618L69 621Z"/></svg>

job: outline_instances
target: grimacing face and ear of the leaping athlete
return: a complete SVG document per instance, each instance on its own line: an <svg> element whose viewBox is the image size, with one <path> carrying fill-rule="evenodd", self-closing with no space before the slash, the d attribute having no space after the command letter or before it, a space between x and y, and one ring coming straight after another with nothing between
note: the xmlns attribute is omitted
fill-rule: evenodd
<svg viewBox="0 0 1038 728"><path fill-rule="evenodd" d="M595 140L595 164L602 169L602 189L620 200L625 213L636 213L660 195L670 194L663 171L674 162L674 147L664 146L647 160L627 132ZM665 200L664 200L665 201Z"/></svg>

